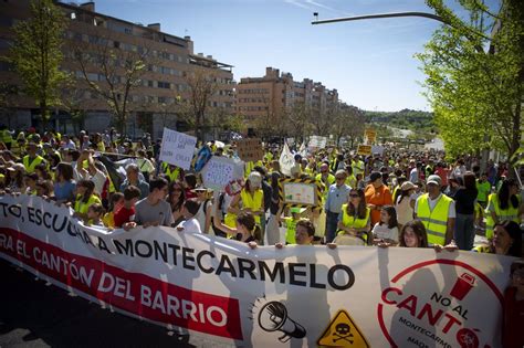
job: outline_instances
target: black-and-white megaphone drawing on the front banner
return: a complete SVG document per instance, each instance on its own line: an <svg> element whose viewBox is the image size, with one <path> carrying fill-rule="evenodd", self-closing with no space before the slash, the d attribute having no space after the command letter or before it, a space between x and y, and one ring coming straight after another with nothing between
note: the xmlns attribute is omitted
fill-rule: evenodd
<svg viewBox="0 0 524 348"><path fill-rule="evenodd" d="M286 342L294 338L305 337L305 328L287 316L287 308L276 300L265 304L259 313L259 325L268 331L282 331L284 335L279 337L281 342Z"/></svg>

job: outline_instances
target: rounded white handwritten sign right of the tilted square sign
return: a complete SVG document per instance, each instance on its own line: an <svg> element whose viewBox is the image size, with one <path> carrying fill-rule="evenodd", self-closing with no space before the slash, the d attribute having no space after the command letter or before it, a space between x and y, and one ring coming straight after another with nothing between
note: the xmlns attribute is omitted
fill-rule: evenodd
<svg viewBox="0 0 524 348"><path fill-rule="evenodd" d="M205 187L222 190L231 180L243 177L243 162L222 156L213 156L200 173Z"/></svg>

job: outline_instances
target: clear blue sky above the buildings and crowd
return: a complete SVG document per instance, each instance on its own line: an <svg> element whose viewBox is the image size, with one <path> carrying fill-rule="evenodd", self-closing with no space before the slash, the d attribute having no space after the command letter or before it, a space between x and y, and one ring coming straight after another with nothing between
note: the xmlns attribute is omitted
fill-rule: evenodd
<svg viewBox="0 0 524 348"><path fill-rule="evenodd" d="M432 12L422 0L98 0L96 12L190 35L195 53L233 65L234 80L265 67L336 88L367 110L431 110L415 53L440 23L425 18L312 25L318 19L401 11Z"/></svg>

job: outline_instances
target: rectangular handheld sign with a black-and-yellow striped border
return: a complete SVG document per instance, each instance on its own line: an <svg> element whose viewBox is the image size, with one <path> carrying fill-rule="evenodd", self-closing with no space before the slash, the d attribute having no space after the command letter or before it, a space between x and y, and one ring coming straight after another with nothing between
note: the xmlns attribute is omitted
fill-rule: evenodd
<svg viewBox="0 0 524 348"><path fill-rule="evenodd" d="M280 200L284 205L321 210L322 187L315 179L280 179Z"/></svg>

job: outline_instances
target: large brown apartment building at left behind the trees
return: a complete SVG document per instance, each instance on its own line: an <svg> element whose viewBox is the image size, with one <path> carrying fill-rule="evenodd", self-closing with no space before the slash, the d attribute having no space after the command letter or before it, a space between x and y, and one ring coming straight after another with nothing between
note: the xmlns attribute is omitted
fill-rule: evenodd
<svg viewBox="0 0 524 348"><path fill-rule="evenodd" d="M81 126L86 130L102 131L114 120L106 99L95 93L86 80L107 92L111 78L117 103L124 98L127 101L127 133L132 136L139 136L143 131L158 136L164 126L180 126L180 105L191 98L190 84L195 75L205 76L213 84L207 110L232 112L233 66L211 55L195 54L190 36L163 32L159 23L145 25L98 13L94 2L56 2L56 6L67 21L62 68L76 77L75 88L64 91L64 99L73 101L76 103L74 107L84 112ZM15 40L12 25L30 17L29 7L29 0L0 2L0 56L8 54L10 43ZM109 50L117 54L104 55ZM138 57L146 67L139 73L139 83L126 93L127 76L123 67L126 62ZM101 67L102 62L113 64L109 74ZM7 62L0 62L0 78L4 87L14 91L6 98L0 124L18 129L39 126L40 112L32 98L17 92L20 80ZM53 128L63 133L72 131L75 125L66 104L57 107L50 120Z"/></svg>

